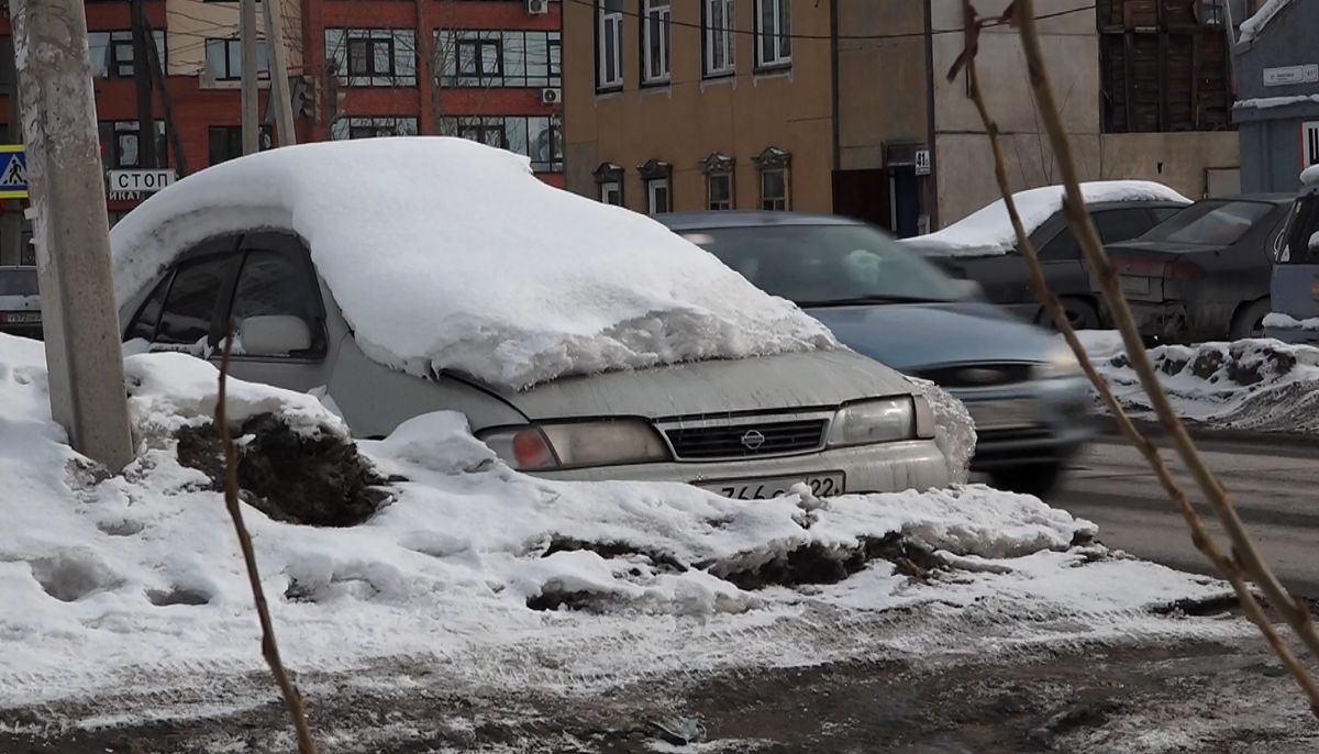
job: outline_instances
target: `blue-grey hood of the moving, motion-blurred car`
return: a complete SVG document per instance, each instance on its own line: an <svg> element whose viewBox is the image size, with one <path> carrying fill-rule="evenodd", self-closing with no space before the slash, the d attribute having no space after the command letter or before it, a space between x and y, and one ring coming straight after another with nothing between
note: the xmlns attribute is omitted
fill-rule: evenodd
<svg viewBox="0 0 1319 754"><path fill-rule="evenodd" d="M810 308L845 345L913 372L940 364L1047 361L1057 344L1038 327L980 302Z"/></svg>

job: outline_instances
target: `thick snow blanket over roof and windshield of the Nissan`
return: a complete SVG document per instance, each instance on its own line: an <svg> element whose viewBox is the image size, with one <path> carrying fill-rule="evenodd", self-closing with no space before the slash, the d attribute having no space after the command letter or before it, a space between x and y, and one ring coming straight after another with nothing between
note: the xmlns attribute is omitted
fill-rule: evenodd
<svg viewBox="0 0 1319 754"><path fill-rule="evenodd" d="M115 289L253 227L307 241L363 349L414 374L528 388L567 374L832 348L828 331L628 210L472 141L274 149L190 175L115 225Z"/></svg>

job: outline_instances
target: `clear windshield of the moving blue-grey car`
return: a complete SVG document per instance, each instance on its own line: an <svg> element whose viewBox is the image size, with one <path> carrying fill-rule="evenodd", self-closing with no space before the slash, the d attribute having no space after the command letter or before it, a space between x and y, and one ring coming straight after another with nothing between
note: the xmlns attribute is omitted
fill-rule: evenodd
<svg viewBox="0 0 1319 754"><path fill-rule="evenodd" d="M960 297L930 262L865 225L758 225L682 235L761 290L799 306Z"/></svg>

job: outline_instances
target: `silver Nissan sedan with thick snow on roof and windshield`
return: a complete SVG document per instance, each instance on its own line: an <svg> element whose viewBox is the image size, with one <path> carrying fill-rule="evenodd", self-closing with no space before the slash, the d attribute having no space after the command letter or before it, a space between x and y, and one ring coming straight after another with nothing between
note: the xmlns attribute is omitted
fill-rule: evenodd
<svg viewBox="0 0 1319 754"><path fill-rule="evenodd" d="M277 149L111 233L125 341L314 392L380 438L438 410L510 467L760 498L942 486L919 389L653 220L454 138Z"/></svg>

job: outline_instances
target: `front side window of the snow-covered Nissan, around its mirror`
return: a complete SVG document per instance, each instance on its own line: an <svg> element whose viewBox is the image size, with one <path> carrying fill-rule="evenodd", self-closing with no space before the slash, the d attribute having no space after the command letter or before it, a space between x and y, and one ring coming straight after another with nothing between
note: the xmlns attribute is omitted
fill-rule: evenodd
<svg viewBox="0 0 1319 754"><path fill-rule="evenodd" d="M319 289L306 253L295 239L273 236L276 243L265 243L273 235L262 233L256 243L245 243L248 250L233 290L230 315L239 332L241 352L247 356L280 356L310 359L324 355L324 315ZM276 246L276 248L252 248ZM268 337L244 339L244 323L252 318L265 319L266 327L276 322L281 332L288 332L297 322L305 326L293 340L288 335L270 341ZM297 322L294 322L297 320ZM297 345L286 347L301 341ZM276 345L280 344L280 345ZM299 347L301 345L301 347Z"/></svg>

